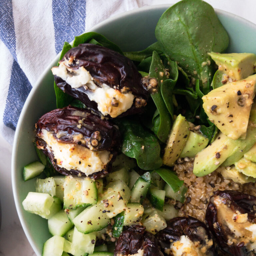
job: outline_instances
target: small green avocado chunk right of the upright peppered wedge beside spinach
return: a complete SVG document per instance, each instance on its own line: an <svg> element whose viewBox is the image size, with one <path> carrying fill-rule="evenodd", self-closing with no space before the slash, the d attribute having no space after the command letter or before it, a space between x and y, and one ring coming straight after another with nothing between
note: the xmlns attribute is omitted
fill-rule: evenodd
<svg viewBox="0 0 256 256"><path fill-rule="evenodd" d="M187 143L183 148L180 157L195 157L199 151L207 146L208 142L209 140L200 132L190 130Z"/></svg>

